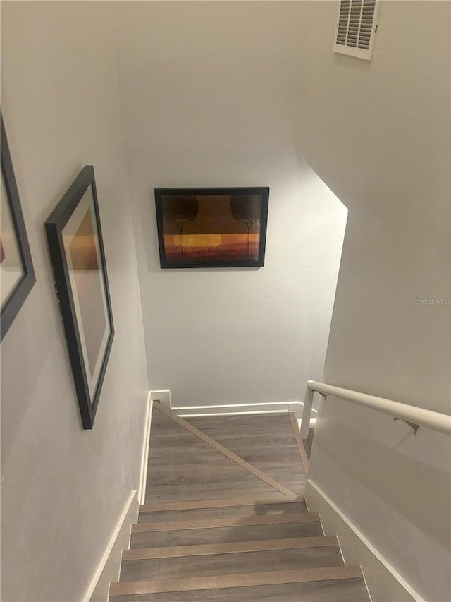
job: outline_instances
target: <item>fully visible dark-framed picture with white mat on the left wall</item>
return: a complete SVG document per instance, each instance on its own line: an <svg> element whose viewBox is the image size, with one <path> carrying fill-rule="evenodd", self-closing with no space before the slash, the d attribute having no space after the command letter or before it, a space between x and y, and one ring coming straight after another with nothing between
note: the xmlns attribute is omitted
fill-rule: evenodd
<svg viewBox="0 0 451 602"><path fill-rule="evenodd" d="M87 165L45 223L83 428L92 428L114 328L94 168Z"/></svg>

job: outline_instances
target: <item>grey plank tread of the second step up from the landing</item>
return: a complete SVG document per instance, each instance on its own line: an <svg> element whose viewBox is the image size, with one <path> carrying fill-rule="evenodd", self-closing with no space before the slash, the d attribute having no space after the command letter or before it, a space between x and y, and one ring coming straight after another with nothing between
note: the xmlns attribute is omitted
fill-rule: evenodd
<svg viewBox="0 0 451 602"><path fill-rule="evenodd" d="M130 548L157 548L163 546L192 546L202 543L261 541L292 537L322 536L318 521L288 524L229 526L212 529L185 529L183 531L154 531L133 533Z"/></svg>

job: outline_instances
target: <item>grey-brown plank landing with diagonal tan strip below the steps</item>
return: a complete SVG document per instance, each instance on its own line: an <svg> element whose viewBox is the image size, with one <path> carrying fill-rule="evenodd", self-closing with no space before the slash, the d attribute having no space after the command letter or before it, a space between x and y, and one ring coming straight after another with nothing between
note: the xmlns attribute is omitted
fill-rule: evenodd
<svg viewBox="0 0 451 602"><path fill-rule="evenodd" d="M292 493L303 493L305 474L288 414L215 416L187 422ZM224 497L258 499L285 496L154 409L146 502Z"/></svg>

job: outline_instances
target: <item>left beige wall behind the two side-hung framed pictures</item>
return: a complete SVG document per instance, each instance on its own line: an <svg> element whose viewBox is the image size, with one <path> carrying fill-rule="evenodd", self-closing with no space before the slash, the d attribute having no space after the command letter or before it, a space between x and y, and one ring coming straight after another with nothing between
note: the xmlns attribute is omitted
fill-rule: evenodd
<svg viewBox="0 0 451 602"><path fill-rule="evenodd" d="M1 343L2 600L78 602L137 489L147 371L108 3L3 2L1 108L37 282ZM94 164L116 334L92 431L44 221Z"/></svg>

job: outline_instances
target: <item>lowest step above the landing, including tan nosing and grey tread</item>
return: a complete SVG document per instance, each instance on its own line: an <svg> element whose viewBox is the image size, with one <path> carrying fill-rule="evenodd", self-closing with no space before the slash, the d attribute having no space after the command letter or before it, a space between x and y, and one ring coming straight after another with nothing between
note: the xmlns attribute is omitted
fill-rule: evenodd
<svg viewBox="0 0 451 602"><path fill-rule="evenodd" d="M199 500L199 502L168 502L144 504L140 506L138 522L154 520L183 520L196 518L274 515L307 512L304 496L295 500Z"/></svg>

